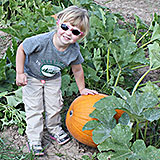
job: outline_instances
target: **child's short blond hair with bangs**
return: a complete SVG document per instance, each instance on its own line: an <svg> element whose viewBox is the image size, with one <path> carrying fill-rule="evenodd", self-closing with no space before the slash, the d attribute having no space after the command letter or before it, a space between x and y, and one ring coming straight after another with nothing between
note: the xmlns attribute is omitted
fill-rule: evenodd
<svg viewBox="0 0 160 160"><path fill-rule="evenodd" d="M86 9L77 6L70 6L56 14L60 23L69 22L73 26L77 26L86 36L89 32L89 16Z"/></svg>

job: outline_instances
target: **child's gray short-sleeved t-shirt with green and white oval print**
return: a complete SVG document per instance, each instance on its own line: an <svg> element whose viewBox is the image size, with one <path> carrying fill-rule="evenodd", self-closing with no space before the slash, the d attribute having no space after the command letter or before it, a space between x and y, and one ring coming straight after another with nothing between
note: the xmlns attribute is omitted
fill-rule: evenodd
<svg viewBox="0 0 160 160"><path fill-rule="evenodd" d="M53 44L55 32L26 38L23 48L26 54L24 72L39 80L58 78L61 70L69 65L81 64L84 59L77 43L60 52Z"/></svg>

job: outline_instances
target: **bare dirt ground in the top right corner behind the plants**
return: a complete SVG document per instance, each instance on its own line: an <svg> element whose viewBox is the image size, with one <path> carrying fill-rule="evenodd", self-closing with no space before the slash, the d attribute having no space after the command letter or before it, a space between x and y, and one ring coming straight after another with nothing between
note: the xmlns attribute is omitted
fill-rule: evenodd
<svg viewBox="0 0 160 160"><path fill-rule="evenodd" d="M153 14L160 14L160 0L95 0L105 4L112 12L121 13L127 20L132 20L134 15L139 16L144 22L150 23Z"/></svg>

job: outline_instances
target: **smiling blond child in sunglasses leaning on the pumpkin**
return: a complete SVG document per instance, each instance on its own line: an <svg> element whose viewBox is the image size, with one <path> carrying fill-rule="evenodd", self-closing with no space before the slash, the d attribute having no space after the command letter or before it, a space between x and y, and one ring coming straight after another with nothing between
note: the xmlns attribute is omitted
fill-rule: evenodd
<svg viewBox="0 0 160 160"><path fill-rule="evenodd" d="M69 141L61 128L61 70L72 71L81 95L97 94L85 88L81 63L84 61L77 41L89 31L89 16L85 9L70 6L57 14L56 31L25 39L17 50L16 84L23 86L26 111L26 134L29 149L43 155L41 136L43 115L50 137L59 144Z"/></svg>

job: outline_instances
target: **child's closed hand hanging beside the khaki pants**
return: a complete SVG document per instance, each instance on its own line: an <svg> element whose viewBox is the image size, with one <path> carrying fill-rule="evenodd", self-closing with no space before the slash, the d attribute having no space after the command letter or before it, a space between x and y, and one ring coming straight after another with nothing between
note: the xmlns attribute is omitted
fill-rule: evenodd
<svg viewBox="0 0 160 160"><path fill-rule="evenodd" d="M24 73L17 73L16 84L17 86L25 86L27 84L27 76Z"/></svg>

